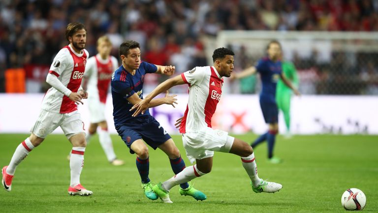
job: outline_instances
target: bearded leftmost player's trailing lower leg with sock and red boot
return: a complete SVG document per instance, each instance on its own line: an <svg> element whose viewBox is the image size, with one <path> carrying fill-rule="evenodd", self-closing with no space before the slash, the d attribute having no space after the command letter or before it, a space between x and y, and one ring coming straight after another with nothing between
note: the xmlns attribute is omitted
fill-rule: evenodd
<svg viewBox="0 0 378 213"><path fill-rule="evenodd" d="M36 135L31 134L29 138L25 139L25 141L17 146L9 165L4 166L1 170L1 184L6 191L10 191L12 189L12 180L17 166L21 163L22 160L26 158L26 156L28 156L29 152L31 152L33 148L41 144L43 140L43 138L39 138Z"/></svg>

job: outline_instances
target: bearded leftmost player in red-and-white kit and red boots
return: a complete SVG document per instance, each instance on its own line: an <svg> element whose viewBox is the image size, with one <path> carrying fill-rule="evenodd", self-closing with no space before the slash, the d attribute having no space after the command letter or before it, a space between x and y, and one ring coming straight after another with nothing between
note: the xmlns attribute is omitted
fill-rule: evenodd
<svg viewBox="0 0 378 213"><path fill-rule="evenodd" d="M47 74L46 82L52 87L43 98L39 117L31 129L32 134L17 146L9 165L2 168L1 183L6 191L11 190L17 165L60 126L73 146L69 162L71 181L68 193L85 196L93 194L80 184L87 145L84 123L77 111L77 105L83 104L81 100L88 97L88 93L80 86L88 59L88 51L84 49L87 40L85 26L81 23L68 24L65 37L69 45L58 52Z"/></svg>

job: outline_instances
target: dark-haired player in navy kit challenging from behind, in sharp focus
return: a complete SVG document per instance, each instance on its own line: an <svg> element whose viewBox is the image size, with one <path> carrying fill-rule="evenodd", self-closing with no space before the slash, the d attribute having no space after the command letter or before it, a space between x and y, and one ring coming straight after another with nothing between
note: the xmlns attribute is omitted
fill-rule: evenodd
<svg viewBox="0 0 378 213"><path fill-rule="evenodd" d="M133 117L130 109L143 100L143 81L146 74L172 75L175 67L142 62L140 54L139 43L136 41L128 40L120 45L119 55L122 66L113 73L111 81L113 116L118 134L130 149L130 153L136 154L135 163L146 197L156 200L158 195L152 190L152 183L148 176L150 171L149 151L144 142L153 149L159 148L167 154L174 174L178 174L185 168L185 162L172 138L149 111ZM166 91L164 98L151 101L151 107L162 104L174 106L177 104L175 96L168 95L168 91ZM189 195L196 200L206 199L205 194L193 188L187 181L182 182L180 186L181 195Z"/></svg>

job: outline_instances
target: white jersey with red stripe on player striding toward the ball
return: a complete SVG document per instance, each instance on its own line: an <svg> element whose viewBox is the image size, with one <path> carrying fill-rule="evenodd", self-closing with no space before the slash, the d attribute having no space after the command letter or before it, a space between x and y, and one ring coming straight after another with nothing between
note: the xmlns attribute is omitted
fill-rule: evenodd
<svg viewBox="0 0 378 213"><path fill-rule="evenodd" d="M181 76L189 84L189 100L180 133L211 128L211 118L221 99L223 79L214 67L196 67Z"/></svg>

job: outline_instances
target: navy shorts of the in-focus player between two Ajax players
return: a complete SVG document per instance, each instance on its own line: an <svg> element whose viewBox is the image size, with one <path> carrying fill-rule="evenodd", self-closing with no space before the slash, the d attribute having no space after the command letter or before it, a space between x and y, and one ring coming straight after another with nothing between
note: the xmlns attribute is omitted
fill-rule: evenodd
<svg viewBox="0 0 378 213"><path fill-rule="evenodd" d="M151 115L144 117L137 117L132 120L132 123L117 126L118 135L126 143L130 149L130 153L135 152L131 150L131 143L138 139L143 139L152 148L157 149L158 145L171 139L171 136L160 126L159 122Z"/></svg>

